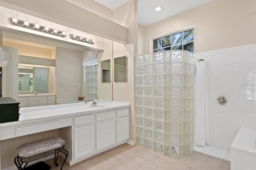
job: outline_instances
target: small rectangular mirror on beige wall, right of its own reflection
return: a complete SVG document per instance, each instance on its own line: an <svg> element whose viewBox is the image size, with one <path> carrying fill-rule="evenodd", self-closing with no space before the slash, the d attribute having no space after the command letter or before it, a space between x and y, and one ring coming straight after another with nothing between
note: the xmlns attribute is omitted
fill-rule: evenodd
<svg viewBox="0 0 256 170"><path fill-rule="evenodd" d="M127 57L114 58L114 82L127 81Z"/></svg>

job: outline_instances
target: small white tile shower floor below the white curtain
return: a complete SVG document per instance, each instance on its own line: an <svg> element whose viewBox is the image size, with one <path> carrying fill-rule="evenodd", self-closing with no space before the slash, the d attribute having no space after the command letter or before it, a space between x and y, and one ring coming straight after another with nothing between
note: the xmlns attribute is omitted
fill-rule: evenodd
<svg viewBox="0 0 256 170"><path fill-rule="evenodd" d="M198 145L194 144L194 150L197 152L201 152L204 154L208 154L211 156L215 156L217 158L221 158L221 159L230 161L230 150L227 150L227 149L222 149L222 148L218 148L218 147L210 146L210 145L198 146Z"/></svg>

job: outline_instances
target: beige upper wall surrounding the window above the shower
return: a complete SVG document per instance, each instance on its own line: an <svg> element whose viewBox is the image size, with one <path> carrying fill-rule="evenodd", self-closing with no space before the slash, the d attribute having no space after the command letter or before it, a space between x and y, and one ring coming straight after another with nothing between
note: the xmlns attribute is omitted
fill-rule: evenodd
<svg viewBox="0 0 256 170"><path fill-rule="evenodd" d="M255 0L214 0L146 26L143 53L150 53L150 38L194 26L194 52L256 43Z"/></svg>

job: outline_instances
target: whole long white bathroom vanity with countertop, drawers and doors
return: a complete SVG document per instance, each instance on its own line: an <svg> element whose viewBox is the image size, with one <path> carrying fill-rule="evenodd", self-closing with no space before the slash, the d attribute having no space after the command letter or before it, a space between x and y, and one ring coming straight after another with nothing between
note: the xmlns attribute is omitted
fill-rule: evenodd
<svg viewBox="0 0 256 170"><path fill-rule="evenodd" d="M70 103L20 109L19 121L0 123L0 140L59 129L70 165L129 139L130 103Z"/></svg>

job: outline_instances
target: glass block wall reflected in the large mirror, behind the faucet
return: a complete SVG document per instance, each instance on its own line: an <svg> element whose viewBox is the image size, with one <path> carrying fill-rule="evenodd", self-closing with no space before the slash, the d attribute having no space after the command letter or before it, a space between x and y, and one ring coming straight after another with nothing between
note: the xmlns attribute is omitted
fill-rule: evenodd
<svg viewBox="0 0 256 170"><path fill-rule="evenodd" d="M84 91L88 101L98 99L98 64L84 66Z"/></svg>

